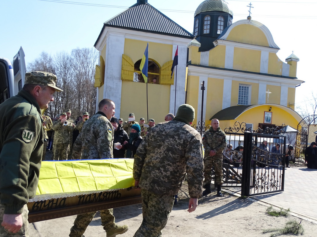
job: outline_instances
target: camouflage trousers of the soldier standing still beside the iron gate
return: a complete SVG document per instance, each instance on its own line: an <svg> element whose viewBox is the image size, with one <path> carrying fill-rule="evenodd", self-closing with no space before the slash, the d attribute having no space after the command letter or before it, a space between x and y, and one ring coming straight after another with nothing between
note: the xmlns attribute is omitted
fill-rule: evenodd
<svg viewBox="0 0 317 237"><path fill-rule="evenodd" d="M223 184L222 159L222 154L214 156L205 156L204 184L211 183L212 167L214 167L215 170L215 184Z"/></svg>

